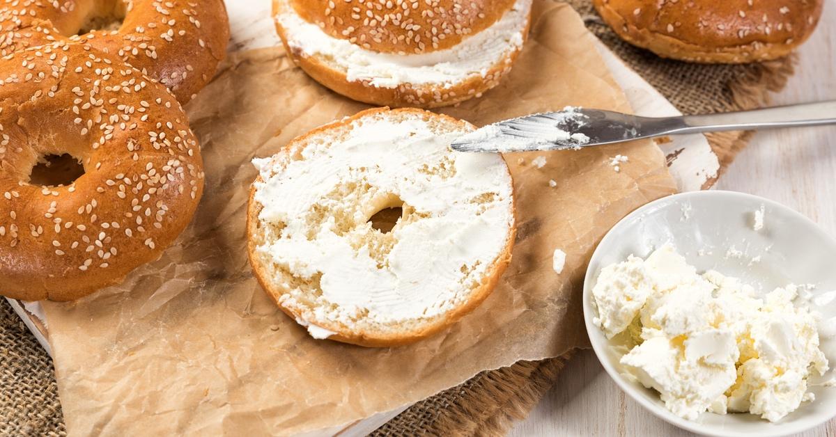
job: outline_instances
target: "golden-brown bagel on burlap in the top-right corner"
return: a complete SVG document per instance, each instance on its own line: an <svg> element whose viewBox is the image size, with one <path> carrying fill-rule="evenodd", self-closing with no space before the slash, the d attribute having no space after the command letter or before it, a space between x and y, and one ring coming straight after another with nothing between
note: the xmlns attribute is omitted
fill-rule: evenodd
<svg viewBox="0 0 836 437"><path fill-rule="evenodd" d="M665 57L741 64L780 58L816 28L823 0L593 0L625 41Z"/></svg>

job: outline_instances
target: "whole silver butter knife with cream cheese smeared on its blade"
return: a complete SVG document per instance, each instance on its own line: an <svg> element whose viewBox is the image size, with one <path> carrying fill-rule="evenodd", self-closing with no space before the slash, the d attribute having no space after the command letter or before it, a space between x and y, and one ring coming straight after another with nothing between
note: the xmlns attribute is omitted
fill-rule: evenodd
<svg viewBox="0 0 836 437"><path fill-rule="evenodd" d="M460 152L569 150L663 135L836 124L836 100L723 114L640 117L567 106L488 124L454 140Z"/></svg>

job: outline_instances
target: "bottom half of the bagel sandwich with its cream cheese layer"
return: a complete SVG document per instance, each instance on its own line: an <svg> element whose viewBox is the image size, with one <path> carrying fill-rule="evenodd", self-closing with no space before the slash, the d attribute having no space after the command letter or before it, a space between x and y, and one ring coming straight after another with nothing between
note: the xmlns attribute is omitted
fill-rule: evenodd
<svg viewBox="0 0 836 437"><path fill-rule="evenodd" d="M278 33L308 75L350 99L419 108L456 104L499 84L528 38L532 5L515 0L494 23L449 48L413 53L411 44L402 42L396 52L405 54L399 54L364 48L359 39L334 38L288 1L273 0Z"/></svg>

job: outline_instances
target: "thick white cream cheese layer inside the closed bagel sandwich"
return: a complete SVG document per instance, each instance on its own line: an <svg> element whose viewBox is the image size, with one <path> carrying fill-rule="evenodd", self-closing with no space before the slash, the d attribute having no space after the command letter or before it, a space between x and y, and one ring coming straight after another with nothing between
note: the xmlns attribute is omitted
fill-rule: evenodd
<svg viewBox="0 0 836 437"><path fill-rule="evenodd" d="M517 0L490 27L461 40L452 48L428 53L380 53L334 38L315 23L304 21L282 0L276 20L290 48L305 56L328 59L346 72L351 82L368 81L378 88L401 84L440 84L450 88L468 77L485 77L503 58L523 46L532 0Z"/></svg>

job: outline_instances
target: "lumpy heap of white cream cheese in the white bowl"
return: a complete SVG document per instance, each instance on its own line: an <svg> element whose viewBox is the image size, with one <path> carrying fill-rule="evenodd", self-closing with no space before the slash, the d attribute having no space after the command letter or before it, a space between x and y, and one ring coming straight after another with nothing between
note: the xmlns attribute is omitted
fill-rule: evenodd
<svg viewBox="0 0 836 437"><path fill-rule="evenodd" d="M624 371L686 419L734 411L780 420L812 399L808 378L828 369L818 314L793 304L798 287L760 298L737 278L697 274L670 245L604 267L592 294L606 337L635 343Z"/></svg>

